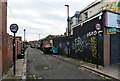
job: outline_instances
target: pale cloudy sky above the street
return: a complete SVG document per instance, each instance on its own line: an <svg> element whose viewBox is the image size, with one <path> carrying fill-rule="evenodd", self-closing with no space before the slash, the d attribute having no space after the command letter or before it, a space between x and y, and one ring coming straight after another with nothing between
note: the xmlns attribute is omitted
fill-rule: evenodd
<svg viewBox="0 0 120 81"><path fill-rule="evenodd" d="M64 34L67 27L67 8L70 5L70 16L80 11L95 0L8 0L7 32L11 35L9 26L16 23L19 26L18 36L23 37L26 29L26 40L38 40L49 34Z"/></svg>

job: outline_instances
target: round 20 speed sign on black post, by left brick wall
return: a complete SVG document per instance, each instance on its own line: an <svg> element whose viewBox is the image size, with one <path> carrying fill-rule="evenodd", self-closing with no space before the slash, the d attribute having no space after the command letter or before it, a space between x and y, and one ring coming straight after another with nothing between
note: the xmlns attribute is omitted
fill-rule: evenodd
<svg viewBox="0 0 120 81"><path fill-rule="evenodd" d="M14 38L13 38L13 63L14 63L14 67L13 67L13 74L16 74L16 66L15 66L15 33L17 33L18 31L18 25L17 24L11 24L10 25L10 30L11 32L14 33Z"/></svg>

